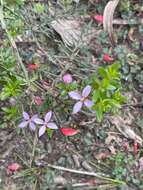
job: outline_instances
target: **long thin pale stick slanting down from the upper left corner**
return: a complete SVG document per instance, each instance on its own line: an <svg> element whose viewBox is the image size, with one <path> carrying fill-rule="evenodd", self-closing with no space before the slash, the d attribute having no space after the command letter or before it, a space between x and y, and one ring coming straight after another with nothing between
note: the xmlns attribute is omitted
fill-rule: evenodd
<svg viewBox="0 0 143 190"><path fill-rule="evenodd" d="M16 43L15 41L13 40L13 38L11 37L9 31L7 30L7 27L6 27L6 24L4 22L4 15L3 15L3 0L0 0L0 22L1 22L1 26L2 26L2 29L5 30L6 34L7 34L7 37L12 45L12 48L13 50L15 51L15 54L16 54L16 57L17 57L17 60L18 60L18 66L21 67L21 69L23 70L23 73L25 75L25 78L27 81L29 81L29 78L28 78L28 72L22 62L22 59L19 55L19 52L18 52L18 49L17 49L17 46L16 46Z"/></svg>

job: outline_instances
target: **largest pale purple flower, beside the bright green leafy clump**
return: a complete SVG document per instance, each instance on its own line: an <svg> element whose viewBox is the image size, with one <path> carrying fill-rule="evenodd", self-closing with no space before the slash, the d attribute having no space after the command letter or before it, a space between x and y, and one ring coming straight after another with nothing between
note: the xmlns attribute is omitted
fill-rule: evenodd
<svg viewBox="0 0 143 190"><path fill-rule="evenodd" d="M82 106L86 106L88 108L91 108L93 106L93 102L88 99L88 95L91 92L91 86L87 85L83 91L82 94L80 94L77 91L71 91L69 92L69 96L74 100L79 100L73 107L73 114L78 113Z"/></svg>

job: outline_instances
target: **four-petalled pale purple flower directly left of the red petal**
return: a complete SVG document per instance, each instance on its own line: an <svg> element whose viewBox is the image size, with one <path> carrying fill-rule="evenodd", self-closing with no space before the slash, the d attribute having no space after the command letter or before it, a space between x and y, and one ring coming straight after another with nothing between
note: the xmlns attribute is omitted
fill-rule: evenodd
<svg viewBox="0 0 143 190"><path fill-rule="evenodd" d="M40 119L40 118L35 118L34 122L38 125L42 125L39 129L39 137L42 136L45 131L46 131L46 127L50 128L50 129L58 129L57 125L53 122L50 122L52 117L52 111L49 111L46 115L44 120Z"/></svg>

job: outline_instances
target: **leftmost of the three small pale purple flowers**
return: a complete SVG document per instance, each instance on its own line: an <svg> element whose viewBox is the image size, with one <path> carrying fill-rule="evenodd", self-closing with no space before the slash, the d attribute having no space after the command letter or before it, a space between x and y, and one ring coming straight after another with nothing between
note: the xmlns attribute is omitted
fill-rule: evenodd
<svg viewBox="0 0 143 190"><path fill-rule="evenodd" d="M32 117L29 116L29 114L27 112L23 112L23 120L22 122L18 125L18 127L20 128L24 128L27 127L29 125L29 128L32 131L35 131L36 129L36 125L34 124L34 119L37 118L38 115L35 114Z"/></svg>

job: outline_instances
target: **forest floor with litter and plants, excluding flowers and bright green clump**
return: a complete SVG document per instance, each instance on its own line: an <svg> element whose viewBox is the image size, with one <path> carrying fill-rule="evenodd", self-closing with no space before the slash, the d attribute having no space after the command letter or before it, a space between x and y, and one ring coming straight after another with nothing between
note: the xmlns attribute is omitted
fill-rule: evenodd
<svg viewBox="0 0 143 190"><path fill-rule="evenodd" d="M143 189L143 3L118 4L114 43L103 29L107 3L1 1L0 190ZM83 107L71 114L68 90L82 90L99 67L117 62L126 101L116 113L102 119ZM75 135L47 130L39 137L37 127L18 127L23 111L49 110Z"/></svg>

